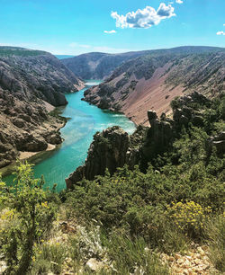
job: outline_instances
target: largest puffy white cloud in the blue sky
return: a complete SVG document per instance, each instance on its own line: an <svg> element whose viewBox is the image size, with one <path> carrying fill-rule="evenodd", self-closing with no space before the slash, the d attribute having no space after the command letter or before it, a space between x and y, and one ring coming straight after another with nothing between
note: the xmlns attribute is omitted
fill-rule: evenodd
<svg viewBox="0 0 225 275"><path fill-rule="evenodd" d="M161 20L175 16L175 8L171 4L161 3L157 11L147 6L143 10L130 12L125 15L120 15L117 12L112 12L111 16L116 20L118 28L144 28L148 29L153 25L157 25Z"/></svg>

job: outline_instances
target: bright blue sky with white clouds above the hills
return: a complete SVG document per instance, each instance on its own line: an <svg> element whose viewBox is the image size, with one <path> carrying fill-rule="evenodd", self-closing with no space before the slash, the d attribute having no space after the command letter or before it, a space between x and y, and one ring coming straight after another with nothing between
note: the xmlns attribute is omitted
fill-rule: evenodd
<svg viewBox="0 0 225 275"><path fill-rule="evenodd" d="M225 0L0 0L0 45L78 55L225 47Z"/></svg>

